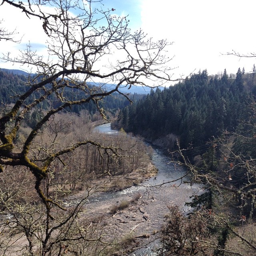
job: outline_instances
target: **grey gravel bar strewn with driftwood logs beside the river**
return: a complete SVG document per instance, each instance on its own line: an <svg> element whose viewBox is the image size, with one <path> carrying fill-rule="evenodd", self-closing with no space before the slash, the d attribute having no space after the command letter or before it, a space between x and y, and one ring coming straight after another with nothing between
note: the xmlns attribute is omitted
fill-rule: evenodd
<svg viewBox="0 0 256 256"><path fill-rule="evenodd" d="M106 230L104 240L112 243L112 255L128 255L160 238L167 206L178 205L184 212L190 211L184 204L196 193L202 193L200 186L150 187L144 183L115 194L105 194L103 198L100 194L94 196L85 205L86 218L102 223Z"/></svg>

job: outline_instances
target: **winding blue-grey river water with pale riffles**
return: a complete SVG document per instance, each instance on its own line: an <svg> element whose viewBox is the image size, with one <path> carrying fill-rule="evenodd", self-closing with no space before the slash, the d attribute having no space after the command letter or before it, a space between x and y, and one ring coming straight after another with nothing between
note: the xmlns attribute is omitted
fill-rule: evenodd
<svg viewBox="0 0 256 256"><path fill-rule="evenodd" d="M95 128L97 131L105 133L105 134L117 134L117 130L112 130L110 127L110 124L103 124ZM170 182L166 184L165 186L179 186L180 194L177 194L173 196L172 201L179 202L181 200L183 204L180 204L182 206L182 209L184 212L191 212L192 209L189 206L185 206L184 202L190 201L190 196L192 194L201 194L202 186L199 184L194 184L193 186L190 186L190 183L188 182L188 178L182 179L182 182L178 180L180 177L184 176L186 174L186 170L180 166L175 165L174 163L170 162L170 155L168 155L168 152L161 150L159 148L155 148L153 146L154 152L152 156L152 163L156 168L158 168L158 174L154 176L153 178L150 178L147 180L147 182L144 182L142 185L144 186L132 186L130 188L124 189L122 191L118 192L111 192L108 194L104 194L102 198L95 198L98 200L107 200L108 198L118 198L124 194L127 193L137 193L139 190L146 190L146 187L152 187L156 185L161 185L165 182ZM177 180L177 181L173 181ZM173 181L173 182L171 182ZM187 182L184 182L187 181ZM171 192L170 192L171 193ZM184 194L185 198L184 199ZM175 197L176 196L176 197ZM179 198L180 196L180 198ZM181 199L182 198L182 199ZM93 201L91 201L93 202ZM177 203L178 204L178 203ZM139 250L136 250L132 252L129 256L157 256L158 255L158 249L160 248L160 242L159 240L156 240L150 244L148 244L145 248L141 248Z"/></svg>

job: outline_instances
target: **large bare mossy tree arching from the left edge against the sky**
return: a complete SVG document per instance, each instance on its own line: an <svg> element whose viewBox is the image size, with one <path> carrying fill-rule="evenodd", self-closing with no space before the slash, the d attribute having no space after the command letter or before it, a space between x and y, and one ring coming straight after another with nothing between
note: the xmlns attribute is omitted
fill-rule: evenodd
<svg viewBox="0 0 256 256"><path fill-rule="evenodd" d="M121 85L147 85L147 79L169 81L170 69L159 69L166 61L162 52L168 43L164 40L156 43L151 39L146 40L141 31L131 34L126 18L111 16L112 10L92 10L93 1L75 4L69 1L28 1L27 5L23 2L16 4L13 1L3 3L22 9L27 16L41 18L43 29L49 36L49 58L46 60L33 52L29 46L19 57L12 58L10 54L4 57L7 61L35 67L37 74L30 76L26 84L27 92L18 98L10 110L3 112L0 119L0 163L2 166L28 167L36 177L36 190L47 206L48 199L42 193L40 183L47 176L52 161L81 145L101 145L90 140L78 141L51 152L42 159L34 159L30 154L31 146L36 136L44 129L46 122L54 114L76 104L93 101L98 106L102 98L113 92L122 94L119 91ZM44 13L43 5L46 3L55 7L54 14ZM80 13L73 16L71 13L74 10ZM100 26L98 23L103 21L106 25ZM120 59L115 64L110 63L108 69L100 67L98 63L104 62L104 57L113 51L120 52ZM108 92L91 87L88 82L96 78L104 82L114 80L116 87ZM17 149L14 141L20 127L24 125L24 116L36 111L44 102L47 105L49 100L54 100L54 104L42 114L23 146ZM99 111L104 116L104 110L99 108ZM116 149L112 149L112 154L116 154Z"/></svg>

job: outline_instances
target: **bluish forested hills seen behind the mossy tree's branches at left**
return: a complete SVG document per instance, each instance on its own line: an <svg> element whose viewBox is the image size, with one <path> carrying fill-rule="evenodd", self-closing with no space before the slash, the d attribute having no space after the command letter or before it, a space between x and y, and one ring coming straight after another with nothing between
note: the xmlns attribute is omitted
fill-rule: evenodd
<svg viewBox="0 0 256 256"><path fill-rule="evenodd" d="M13 74L12 72L8 72L7 70L3 69L0 70L0 102L4 102L5 104L14 104L18 97L28 90L28 86L25 85L28 80L32 81L33 77L28 77L24 74ZM88 87L90 88L90 86ZM94 88L91 87L91 89L96 90L97 88L96 86L94 86ZM64 96L67 97L67 94L68 96L71 96L73 100L78 100L83 96L81 95L81 93L78 93L78 91L76 91L74 88L68 89L68 91L65 92ZM37 95L35 95L34 97L37 97L39 95L40 94L37 93ZM143 98L144 95L134 93L129 97L130 100L136 102L137 100ZM30 99L28 99L27 101L32 100L33 97L30 97ZM116 92L113 93L112 96L102 98L102 100L100 100L98 103L100 108L104 107L106 117L110 119L113 118L113 116L115 116L120 109L130 104L127 98ZM58 100L58 96L50 95L48 97L48 101L44 102L44 104L41 104L41 110L45 110L46 108L50 107L50 105L56 107L59 104L60 101ZM94 104L94 102L71 106L71 108L68 108L68 111L76 114L80 114L81 111L86 111L88 112L88 116L90 116L90 119L92 121L96 121L102 118L99 115L96 104ZM26 116L27 124L33 126L36 121L39 120L39 118L40 113L32 112L31 115Z"/></svg>

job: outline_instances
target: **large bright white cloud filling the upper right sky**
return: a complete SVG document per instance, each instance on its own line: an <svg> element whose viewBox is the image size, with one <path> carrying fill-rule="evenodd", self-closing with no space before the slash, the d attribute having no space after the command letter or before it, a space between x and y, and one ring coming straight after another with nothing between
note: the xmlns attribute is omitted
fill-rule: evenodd
<svg viewBox="0 0 256 256"><path fill-rule="evenodd" d="M239 67L252 69L254 58L226 56L236 50L247 54L256 48L256 1L245 0L143 0L142 29L154 38L173 41L171 55L178 74L207 69L210 74Z"/></svg>

